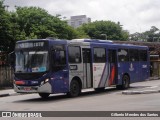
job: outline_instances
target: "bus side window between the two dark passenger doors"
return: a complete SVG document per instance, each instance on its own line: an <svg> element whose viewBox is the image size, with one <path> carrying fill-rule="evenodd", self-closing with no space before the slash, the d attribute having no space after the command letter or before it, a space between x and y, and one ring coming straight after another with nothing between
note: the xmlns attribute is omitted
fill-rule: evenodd
<svg viewBox="0 0 160 120"><path fill-rule="evenodd" d="M105 63L106 62L105 48L94 48L94 62L95 63Z"/></svg>

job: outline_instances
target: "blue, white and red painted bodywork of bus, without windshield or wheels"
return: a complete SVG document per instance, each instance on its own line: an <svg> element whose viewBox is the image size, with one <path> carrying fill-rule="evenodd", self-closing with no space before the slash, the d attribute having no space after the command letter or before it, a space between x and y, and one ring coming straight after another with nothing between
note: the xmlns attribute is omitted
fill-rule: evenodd
<svg viewBox="0 0 160 120"><path fill-rule="evenodd" d="M37 92L37 93L68 93L70 92L70 83L72 80L78 80L82 89L86 88L105 88L112 85L122 85L124 75L128 75L130 83L143 81L149 78L149 57L147 61L119 61L119 49L137 49L146 50L147 47L135 45L120 45L111 42L99 42L98 40L83 41L63 41L63 40L27 40L18 43L47 42L45 51L48 51L48 70L37 76L38 73L32 72L30 78L25 79L25 73L16 73L14 77L14 89L16 92ZM27 44L26 44L27 45ZM31 46L31 44L28 44ZM36 44L35 44L36 45ZM38 45L38 44L37 44ZM56 49L55 49L55 46ZM63 48L61 48L63 46ZM15 49L17 52L34 51L34 48ZM41 46L40 46L41 47ZM63 49L63 50L61 50ZM76 51L79 49L79 52ZM102 57L96 61L97 51L103 51L104 54L97 55ZM39 48L35 47L35 54L38 55ZM32 53L33 54L33 53ZM128 54L128 53L127 53ZM37 55L37 56L38 56ZM147 53L148 55L148 53ZM55 61L64 57L63 66L56 66ZM77 57L78 56L78 57ZM130 58L129 58L130 59ZM41 72L41 71L40 71ZM19 74L19 75L18 75Z"/></svg>

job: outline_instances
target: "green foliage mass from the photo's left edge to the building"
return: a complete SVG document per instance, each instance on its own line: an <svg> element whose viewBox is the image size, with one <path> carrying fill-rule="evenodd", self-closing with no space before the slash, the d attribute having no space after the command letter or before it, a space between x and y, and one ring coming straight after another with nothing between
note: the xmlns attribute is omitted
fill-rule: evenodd
<svg viewBox="0 0 160 120"><path fill-rule="evenodd" d="M13 51L17 40L73 39L78 35L58 15L52 16L39 7L16 7L15 12L8 12L0 0L0 14L0 51Z"/></svg>

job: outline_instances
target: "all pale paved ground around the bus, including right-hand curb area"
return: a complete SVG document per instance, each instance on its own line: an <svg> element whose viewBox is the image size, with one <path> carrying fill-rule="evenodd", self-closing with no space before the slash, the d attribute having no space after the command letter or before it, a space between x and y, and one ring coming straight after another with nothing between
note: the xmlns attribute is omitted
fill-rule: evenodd
<svg viewBox="0 0 160 120"><path fill-rule="evenodd" d="M91 91L91 92L88 92ZM51 95L41 100L37 94L15 93L13 89L0 90L1 111L159 111L160 80L149 80L131 84L128 90L108 88L96 93L83 90L77 98ZM21 118L12 118L15 120ZM40 119L40 118L32 118ZM54 117L42 120L158 120L159 117ZM8 120L8 118L6 119Z"/></svg>

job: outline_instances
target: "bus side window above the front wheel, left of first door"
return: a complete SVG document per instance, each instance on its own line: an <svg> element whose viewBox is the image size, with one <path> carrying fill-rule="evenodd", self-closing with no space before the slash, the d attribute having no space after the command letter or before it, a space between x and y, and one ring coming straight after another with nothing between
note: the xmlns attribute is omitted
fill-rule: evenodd
<svg viewBox="0 0 160 120"><path fill-rule="evenodd" d="M79 46L69 46L69 63L81 63L81 51Z"/></svg>

